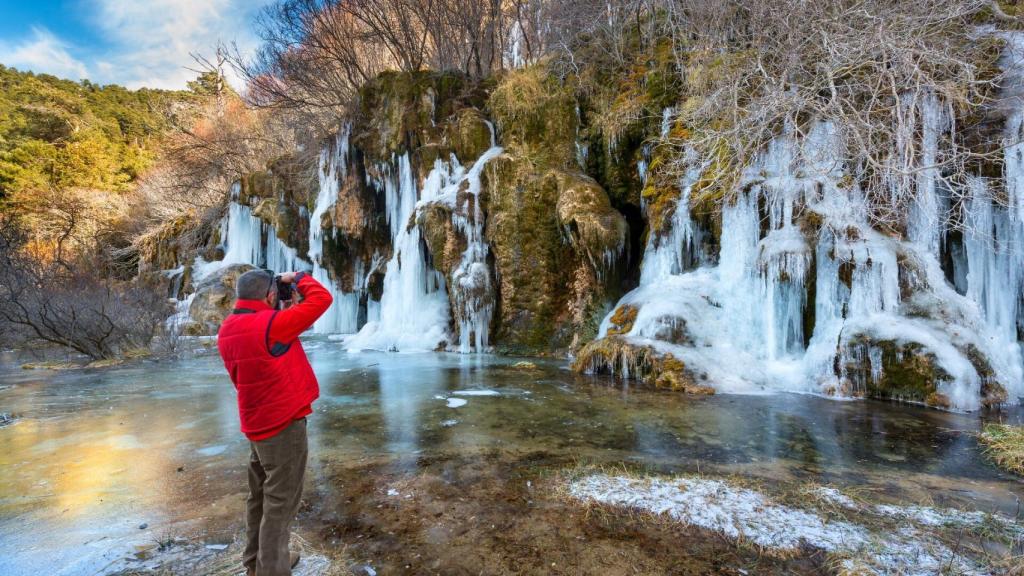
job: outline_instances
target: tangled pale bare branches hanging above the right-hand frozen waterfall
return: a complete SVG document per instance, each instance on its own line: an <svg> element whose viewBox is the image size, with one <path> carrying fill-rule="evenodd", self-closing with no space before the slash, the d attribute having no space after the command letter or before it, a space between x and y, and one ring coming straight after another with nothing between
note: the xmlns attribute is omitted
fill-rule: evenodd
<svg viewBox="0 0 1024 576"><path fill-rule="evenodd" d="M842 134L845 163L874 222L900 230L922 171L947 190L997 151L966 146L963 117L992 101L998 39L975 25L984 0L664 2L691 98L677 119L700 161L743 166L783 127ZM938 112L931 109L938 107ZM922 150L936 114L941 152ZM682 155L679 155L682 157ZM685 169L680 163L680 170ZM728 198L726 178L706 189ZM721 186L724 189L716 187Z"/></svg>

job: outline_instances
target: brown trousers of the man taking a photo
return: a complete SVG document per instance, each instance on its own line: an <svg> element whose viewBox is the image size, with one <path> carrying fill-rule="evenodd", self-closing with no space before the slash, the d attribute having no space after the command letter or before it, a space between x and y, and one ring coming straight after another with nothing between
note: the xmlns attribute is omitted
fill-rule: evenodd
<svg viewBox="0 0 1024 576"><path fill-rule="evenodd" d="M257 576L288 576L290 527L299 509L306 471L306 419L276 436L250 442L246 549L242 563Z"/></svg>

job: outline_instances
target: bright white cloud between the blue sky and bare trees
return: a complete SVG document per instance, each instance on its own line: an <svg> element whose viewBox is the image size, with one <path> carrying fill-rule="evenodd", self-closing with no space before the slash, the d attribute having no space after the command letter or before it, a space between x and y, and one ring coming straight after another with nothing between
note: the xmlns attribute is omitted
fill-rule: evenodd
<svg viewBox="0 0 1024 576"><path fill-rule="evenodd" d="M253 49L252 18L267 0L91 0L94 23L112 45L102 82L129 88L183 88L196 76L190 53L213 54L218 42Z"/></svg>

